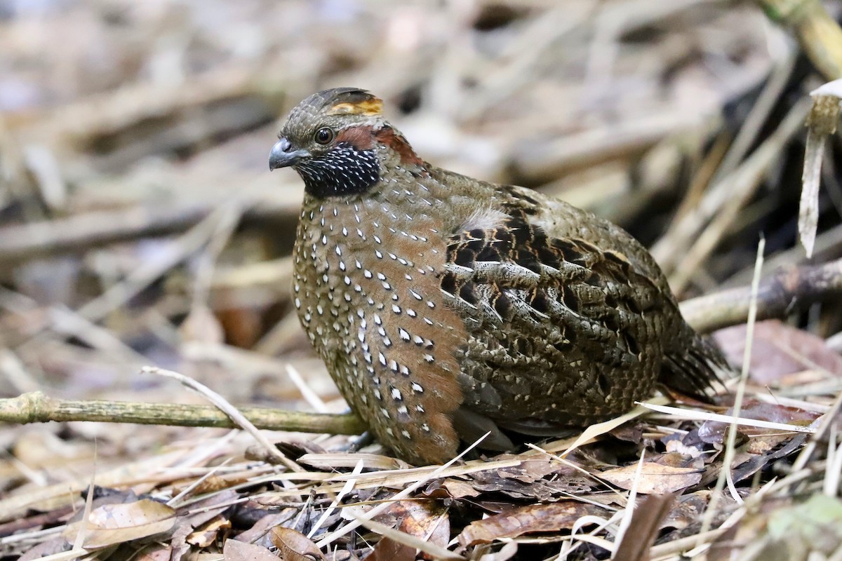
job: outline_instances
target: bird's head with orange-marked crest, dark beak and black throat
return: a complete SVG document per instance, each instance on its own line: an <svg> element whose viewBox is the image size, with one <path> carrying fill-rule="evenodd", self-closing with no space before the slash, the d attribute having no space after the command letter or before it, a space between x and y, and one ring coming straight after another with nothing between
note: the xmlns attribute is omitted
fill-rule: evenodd
<svg viewBox="0 0 842 561"><path fill-rule="evenodd" d="M355 87L314 93L292 109L269 153L269 169L292 167L307 193L324 198L364 193L381 177L378 152L421 166L407 140L383 119L383 102Z"/></svg>

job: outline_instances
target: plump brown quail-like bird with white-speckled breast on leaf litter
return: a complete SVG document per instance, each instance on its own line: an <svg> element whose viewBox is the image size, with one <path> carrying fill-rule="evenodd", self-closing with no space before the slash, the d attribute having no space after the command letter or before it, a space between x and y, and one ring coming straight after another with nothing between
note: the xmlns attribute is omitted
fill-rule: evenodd
<svg viewBox="0 0 842 561"><path fill-rule="evenodd" d="M398 458L588 426L657 384L710 394L722 355L644 246L535 190L421 159L355 87L290 111L269 169L304 183L292 299L350 408Z"/></svg>

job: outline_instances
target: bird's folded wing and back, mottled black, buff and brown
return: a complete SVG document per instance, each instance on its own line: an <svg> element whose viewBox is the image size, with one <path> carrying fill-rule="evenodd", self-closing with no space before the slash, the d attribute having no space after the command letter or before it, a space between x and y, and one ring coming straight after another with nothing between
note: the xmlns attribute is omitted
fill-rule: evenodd
<svg viewBox="0 0 842 561"><path fill-rule="evenodd" d="M456 351L463 409L539 433L624 413L659 378L703 393L708 351L648 254L620 250L637 241L526 189L495 199L453 232L440 278L469 334Z"/></svg>

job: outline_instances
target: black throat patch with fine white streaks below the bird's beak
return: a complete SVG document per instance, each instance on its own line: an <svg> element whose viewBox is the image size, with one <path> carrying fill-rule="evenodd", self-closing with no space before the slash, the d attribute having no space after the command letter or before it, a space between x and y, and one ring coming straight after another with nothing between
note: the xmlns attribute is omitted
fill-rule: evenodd
<svg viewBox="0 0 842 561"><path fill-rule="evenodd" d="M380 161L375 150L360 150L339 142L322 156L307 158L295 167L304 190L327 198L364 193L380 180Z"/></svg>

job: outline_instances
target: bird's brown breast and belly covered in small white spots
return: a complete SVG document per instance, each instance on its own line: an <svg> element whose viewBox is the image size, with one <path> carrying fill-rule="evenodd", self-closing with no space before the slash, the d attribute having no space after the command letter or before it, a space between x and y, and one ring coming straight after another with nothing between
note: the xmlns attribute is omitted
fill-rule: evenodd
<svg viewBox="0 0 842 561"><path fill-rule="evenodd" d="M444 462L459 442L453 349L466 334L440 297L447 251L434 220L397 209L423 197L388 194L306 198L294 301L340 391L381 442L416 463Z"/></svg>

